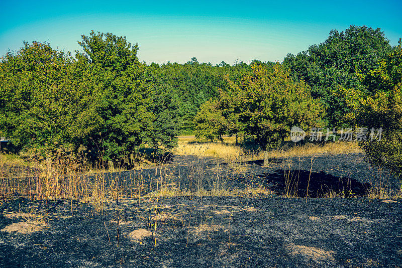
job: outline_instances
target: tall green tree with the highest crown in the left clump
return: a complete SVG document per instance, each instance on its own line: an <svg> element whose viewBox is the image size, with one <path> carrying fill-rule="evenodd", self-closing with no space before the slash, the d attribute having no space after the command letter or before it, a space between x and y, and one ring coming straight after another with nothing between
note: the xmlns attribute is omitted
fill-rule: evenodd
<svg viewBox="0 0 402 268"><path fill-rule="evenodd" d="M148 110L151 99L145 87L144 65L137 57L138 45L131 46L126 37L112 33L82 35L78 42L84 52L76 52L86 62L91 78L91 104L102 123L91 130L88 146L103 148L105 158L121 158L131 153L150 134L154 115ZM97 144L99 139L102 144Z"/></svg>

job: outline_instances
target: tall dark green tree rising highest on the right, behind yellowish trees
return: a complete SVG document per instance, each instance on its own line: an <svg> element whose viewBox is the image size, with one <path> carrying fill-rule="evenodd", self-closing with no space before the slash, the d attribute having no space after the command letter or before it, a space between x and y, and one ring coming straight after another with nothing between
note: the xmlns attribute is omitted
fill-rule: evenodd
<svg viewBox="0 0 402 268"><path fill-rule="evenodd" d="M391 49L379 28L352 25L342 32L332 30L327 40L307 51L288 54L283 63L291 69L294 80L303 79L311 86L312 96L320 99L327 110L328 124L342 127L348 108L339 98L338 85L363 90L357 73L375 69L378 60Z"/></svg>

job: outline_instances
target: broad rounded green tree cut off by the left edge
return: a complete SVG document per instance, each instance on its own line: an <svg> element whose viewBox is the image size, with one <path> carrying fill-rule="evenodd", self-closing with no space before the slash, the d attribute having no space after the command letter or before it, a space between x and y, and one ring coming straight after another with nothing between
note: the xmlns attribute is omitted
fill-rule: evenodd
<svg viewBox="0 0 402 268"><path fill-rule="evenodd" d="M87 92L77 80L82 69L69 54L48 43L24 43L0 64L0 131L19 149L44 153L73 147L79 124L100 118L87 108ZM81 120L76 120L81 118ZM49 152L48 152L49 153Z"/></svg>

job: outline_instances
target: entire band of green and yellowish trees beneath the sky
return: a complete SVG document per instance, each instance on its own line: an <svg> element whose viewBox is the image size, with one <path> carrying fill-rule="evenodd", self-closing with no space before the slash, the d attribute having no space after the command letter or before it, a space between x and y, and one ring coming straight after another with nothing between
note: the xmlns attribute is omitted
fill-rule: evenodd
<svg viewBox="0 0 402 268"><path fill-rule="evenodd" d="M0 63L0 137L43 158L125 158L177 136L242 136L268 152L292 126L381 128L361 141L371 161L402 171L402 47L350 26L283 62L147 63L138 44L90 32L81 51L24 42ZM236 139L237 140L237 139Z"/></svg>

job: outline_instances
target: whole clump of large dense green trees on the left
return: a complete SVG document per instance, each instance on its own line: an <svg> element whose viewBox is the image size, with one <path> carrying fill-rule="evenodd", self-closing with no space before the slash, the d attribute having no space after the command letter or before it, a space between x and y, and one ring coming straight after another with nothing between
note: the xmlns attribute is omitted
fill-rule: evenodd
<svg viewBox="0 0 402 268"><path fill-rule="evenodd" d="M94 32L79 44L83 52L75 59L37 42L6 55L0 65L2 136L42 154L64 148L105 160L132 154L143 142L172 147L178 131L170 128L179 121L161 108L176 104L145 86L138 46Z"/></svg>

